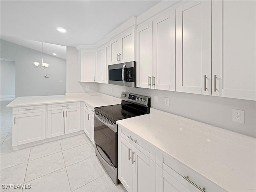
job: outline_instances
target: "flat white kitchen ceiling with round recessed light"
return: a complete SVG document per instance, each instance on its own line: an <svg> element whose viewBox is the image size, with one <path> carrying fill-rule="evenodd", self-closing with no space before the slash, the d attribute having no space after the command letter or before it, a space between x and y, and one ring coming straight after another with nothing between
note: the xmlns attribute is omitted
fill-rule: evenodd
<svg viewBox="0 0 256 192"><path fill-rule="evenodd" d="M63 46L96 44L126 20L157 2L1 0L1 35ZM56 27L68 31L60 33Z"/></svg>

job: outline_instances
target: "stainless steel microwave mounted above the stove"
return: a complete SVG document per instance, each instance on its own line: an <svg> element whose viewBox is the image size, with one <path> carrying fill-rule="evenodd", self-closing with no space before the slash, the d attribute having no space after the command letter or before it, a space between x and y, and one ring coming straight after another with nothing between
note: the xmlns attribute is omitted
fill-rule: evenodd
<svg viewBox="0 0 256 192"><path fill-rule="evenodd" d="M109 65L108 84L136 87L136 61Z"/></svg>

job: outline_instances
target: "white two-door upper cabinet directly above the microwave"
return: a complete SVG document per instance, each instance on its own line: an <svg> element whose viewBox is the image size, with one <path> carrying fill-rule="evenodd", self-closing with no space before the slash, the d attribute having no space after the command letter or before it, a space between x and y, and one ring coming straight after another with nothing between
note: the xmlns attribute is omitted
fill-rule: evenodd
<svg viewBox="0 0 256 192"><path fill-rule="evenodd" d="M110 64L134 61L134 33L134 29L132 29L110 41Z"/></svg>

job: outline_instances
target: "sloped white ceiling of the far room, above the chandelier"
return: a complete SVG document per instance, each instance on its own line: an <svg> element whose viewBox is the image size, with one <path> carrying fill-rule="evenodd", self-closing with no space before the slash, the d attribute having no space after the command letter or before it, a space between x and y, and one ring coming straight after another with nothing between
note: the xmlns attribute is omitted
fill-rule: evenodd
<svg viewBox="0 0 256 192"><path fill-rule="evenodd" d="M42 52L42 42L1 35L1 39ZM66 46L44 43L44 53L66 59Z"/></svg>

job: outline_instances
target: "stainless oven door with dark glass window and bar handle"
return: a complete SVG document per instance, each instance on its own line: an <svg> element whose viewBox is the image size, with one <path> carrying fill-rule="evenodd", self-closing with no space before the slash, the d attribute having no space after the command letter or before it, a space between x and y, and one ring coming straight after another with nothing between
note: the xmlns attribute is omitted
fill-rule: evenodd
<svg viewBox="0 0 256 192"><path fill-rule="evenodd" d="M96 111L94 117L96 117L94 123L95 150L100 154L98 158L102 158L109 166L117 168L117 124Z"/></svg>

